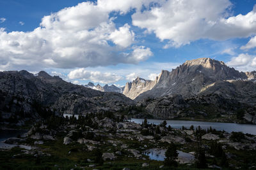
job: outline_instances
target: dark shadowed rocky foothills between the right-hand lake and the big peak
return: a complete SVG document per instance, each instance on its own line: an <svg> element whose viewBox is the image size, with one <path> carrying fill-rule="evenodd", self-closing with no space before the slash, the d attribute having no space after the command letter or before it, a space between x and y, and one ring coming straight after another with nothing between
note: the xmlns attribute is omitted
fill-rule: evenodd
<svg viewBox="0 0 256 170"><path fill-rule="evenodd" d="M240 103L214 93L185 99L180 95L147 98L137 106L144 108L151 118L256 124L255 104Z"/></svg>

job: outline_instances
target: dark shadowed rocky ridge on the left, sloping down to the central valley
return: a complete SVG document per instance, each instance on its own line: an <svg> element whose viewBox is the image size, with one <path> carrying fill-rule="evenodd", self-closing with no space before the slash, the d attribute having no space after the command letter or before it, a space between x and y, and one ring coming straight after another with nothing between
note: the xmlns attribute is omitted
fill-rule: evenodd
<svg viewBox="0 0 256 170"><path fill-rule="evenodd" d="M134 102L123 94L100 92L63 81L44 71L33 75L28 71L0 72L1 120L40 118L70 113L116 111Z"/></svg>

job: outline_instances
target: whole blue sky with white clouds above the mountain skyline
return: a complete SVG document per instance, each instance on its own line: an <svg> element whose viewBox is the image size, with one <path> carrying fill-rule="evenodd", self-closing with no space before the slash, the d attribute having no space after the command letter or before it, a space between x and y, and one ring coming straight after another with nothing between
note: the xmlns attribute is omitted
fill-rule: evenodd
<svg viewBox="0 0 256 170"><path fill-rule="evenodd" d="M0 0L0 71L154 80L200 57L256 70L253 0Z"/></svg>

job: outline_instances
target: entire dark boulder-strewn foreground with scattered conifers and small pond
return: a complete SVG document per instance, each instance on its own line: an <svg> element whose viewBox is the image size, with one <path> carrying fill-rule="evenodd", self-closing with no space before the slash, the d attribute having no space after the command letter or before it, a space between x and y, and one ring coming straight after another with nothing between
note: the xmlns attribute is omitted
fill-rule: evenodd
<svg viewBox="0 0 256 170"><path fill-rule="evenodd" d="M253 169L256 137L241 132L135 124L122 115L51 117L4 141L1 169ZM169 146L175 164L164 156ZM170 152L170 151L169 151ZM170 157L168 157L170 158ZM157 160L154 160L157 159ZM158 160L161 159L161 160ZM164 161L163 161L164 160Z"/></svg>

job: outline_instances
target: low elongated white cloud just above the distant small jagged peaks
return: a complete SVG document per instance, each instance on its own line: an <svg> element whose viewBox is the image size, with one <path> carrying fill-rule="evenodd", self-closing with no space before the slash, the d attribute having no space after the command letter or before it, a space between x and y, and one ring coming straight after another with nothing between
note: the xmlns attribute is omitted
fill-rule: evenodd
<svg viewBox="0 0 256 170"><path fill-rule="evenodd" d="M115 83L122 79L122 76L118 76L114 73L100 73L100 71L87 71L84 68L75 69L68 73L68 78L79 80L91 80L93 82L100 83Z"/></svg>

